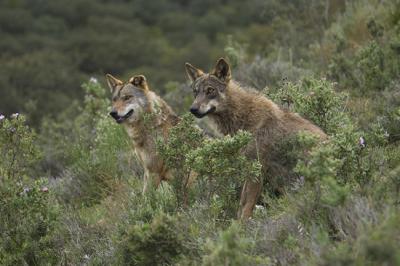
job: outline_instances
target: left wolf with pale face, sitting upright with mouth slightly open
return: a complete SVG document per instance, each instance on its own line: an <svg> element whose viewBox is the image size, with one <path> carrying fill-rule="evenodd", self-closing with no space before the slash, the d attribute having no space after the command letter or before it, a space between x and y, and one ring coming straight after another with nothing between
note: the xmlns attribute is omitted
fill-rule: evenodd
<svg viewBox="0 0 400 266"><path fill-rule="evenodd" d="M132 140L144 169L145 194L150 187L157 188L162 180L172 178L171 170L157 154L156 138L166 140L170 128L180 119L163 99L150 90L144 75L136 75L123 82L107 74L106 80L112 94L110 115L124 125ZM146 117L149 119L146 120Z"/></svg>

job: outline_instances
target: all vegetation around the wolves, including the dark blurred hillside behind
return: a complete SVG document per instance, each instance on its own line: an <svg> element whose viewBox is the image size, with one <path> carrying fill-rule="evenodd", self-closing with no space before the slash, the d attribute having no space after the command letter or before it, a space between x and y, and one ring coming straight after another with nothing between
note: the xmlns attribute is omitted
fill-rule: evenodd
<svg viewBox="0 0 400 266"><path fill-rule="evenodd" d="M399 1L65 2L0 4L1 265L400 265ZM298 180L244 222L252 136L186 113L183 63L221 55L329 135L282 143ZM104 72L146 74L182 117L157 143L175 179L146 196Z"/></svg>

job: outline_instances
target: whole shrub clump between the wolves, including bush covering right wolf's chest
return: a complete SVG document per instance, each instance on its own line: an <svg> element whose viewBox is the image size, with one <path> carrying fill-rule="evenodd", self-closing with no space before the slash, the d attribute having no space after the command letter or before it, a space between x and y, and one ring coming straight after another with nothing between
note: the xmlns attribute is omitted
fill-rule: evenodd
<svg viewBox="0 0 400 266"><path fill-rule="evenodd" d="M192 115L184 115L168 140L157 143L160 155L174 169L171 184L178 205L188 206L193 195L205 201L216 217L234 217L244 180L260 178L260 164L242 154L252 137L239 132L232 137L204 138L193 121Z"/></svg>

